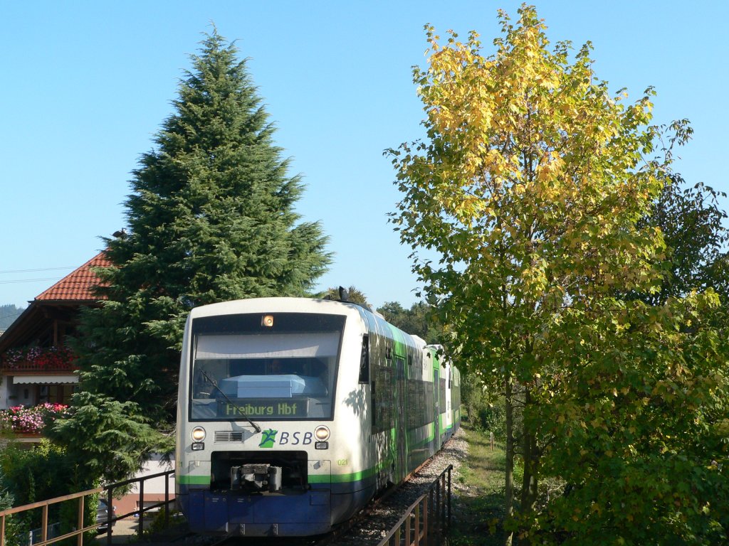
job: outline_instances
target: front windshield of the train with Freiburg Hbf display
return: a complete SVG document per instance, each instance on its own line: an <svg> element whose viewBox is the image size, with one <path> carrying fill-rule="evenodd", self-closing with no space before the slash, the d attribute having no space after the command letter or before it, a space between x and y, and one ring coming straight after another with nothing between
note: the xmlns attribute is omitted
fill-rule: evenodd
<svg viewBox="0 0 729 546"><path fill-rule="evenodd" d="M344 322L311 313L193 320L190 420L332 419Z"/></svg>

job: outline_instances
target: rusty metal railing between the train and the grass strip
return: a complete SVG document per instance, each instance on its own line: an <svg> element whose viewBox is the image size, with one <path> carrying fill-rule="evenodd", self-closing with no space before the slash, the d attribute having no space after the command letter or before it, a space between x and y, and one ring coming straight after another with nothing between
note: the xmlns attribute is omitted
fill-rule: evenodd
<svg viewBox="0 0 729 546"><path fill-rule="evenodd" d="M440 545L451 528L451 471L435 478L428 492L418 497L378 546ZM432 542L431 542L432 539Z"/></svg>

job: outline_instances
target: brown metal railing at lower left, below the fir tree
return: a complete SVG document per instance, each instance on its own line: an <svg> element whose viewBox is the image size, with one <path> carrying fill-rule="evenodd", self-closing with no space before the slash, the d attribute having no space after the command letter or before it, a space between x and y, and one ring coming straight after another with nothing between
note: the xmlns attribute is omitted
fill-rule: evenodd
<svg viewBox="0 0 729 546"><path fill-rule="evenodd" d="M86 491L79 491L79 493L74 493L70 495L64 495L64 496L57 496L55 499L49 499L45 501L40 502L34 502L30 505L23 505L18 506L15 508L9 508L7 510L0 510L0 546L5 546L5 523L6 518L9 515L12 514L21 514L26 513L30 510L41 510L41 524L40 524L40 540L39 542L33 542L33 546L46 546L53 544L54 542L60 542L61 540L70 539L70 538L76 538L77 546L83 546L84 544L84 534L87 531L93 531L95 529L98 529L99 527L106 526L106 544L111 545L112 544L112 533L113 531L113 523L116 521L119 521L123 518L128 518L129 516L139 516L139 527L137 533L139 536L141 536L142 532L144 531L144 514L149 512L150 510L155 510L160 507L165 507L165 526L169 525L169 513L170 510L168 510L169 505L175 501L175 499L170 499L170 476L174 474L174 470L167 470L165 472L158 472L157 474L152 474L148 476L142 476L141 478L132 478L130 480L125 480L117 483L112 483L109 486L106 487L97 487L95 489L87 489ZM144 482L147 480L152 480L153 478L165 478L165 499L160 502L155 502L152 505L145 505L144 504ZM133 512L122 514L122 515L115 515L112 509L112 502L114 499L114 490L118 490L120 488L126 488L127 486L130 486L133 483L139 483L139 510L134 510ZM105 493L106 497L106 521L97 521L94 516L94 522L91 525L85 525L84 523L84 507L87 496L95 495L95 494L101 494L103 492ZM67 501L73 501L77 500L77 521L76 526L73 531L70 531L65 534L58 535L56 537L49 537L48 530L50 529L50 526L48 524L48 511L49 508L53 505L58 505L58 503L61 502L67 502ZM28 532L28 531L26 531ZM33 539L34 540L34 539Z"/></svg>

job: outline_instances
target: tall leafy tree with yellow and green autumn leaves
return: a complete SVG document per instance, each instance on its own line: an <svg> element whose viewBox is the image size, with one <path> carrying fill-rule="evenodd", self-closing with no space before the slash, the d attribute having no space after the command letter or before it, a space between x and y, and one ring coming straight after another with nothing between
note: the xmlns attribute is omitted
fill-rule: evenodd
<svg viewBox="0 0 729 546"><path fill-rule="evenodd" d="M599 529L594 536L606 542L576 543L612 544L621 535L608 530L630 521L594 473L604 472L606 486L624 485L620 464L632 452L623 434L632 425L636 437L647 435L650 456L660 451L641 404L660 395L660 381L690 376L688 364L679 371L666 355L687 359L688 341L704 332L700 317L717 304L712 293L660 309L620 297L660 283L663 237L641 220L670 172L666 152L690 132L673 124L661 144L663 128L650 124L652 90L634 102L611 94L593 72L590 44L550 48L534 7L518 13L516 25L499 13L503 36L491 56L475 32L465 42L449 32L443 43L426 26L429 63L415 68L414 82L427 138L389 150L402 191L392 221L415 250L427 296L440 302L453 360L505 397L507 527L534 543ZM433 254L437 262L419 257ZM706 330L702 361L714 371L726 354L712 346L715 334ZM725 376L712 381L701 389L725 388ZM518 435L515 411L523 415ZM599 460L585 463L577 440ZM523 461L521 484L513 481L515 459ZM618 459L618 467L604 464ZM571 492L561 504L538 504L544 472ZM673 515L655 515L656 525Z"/></svg>

